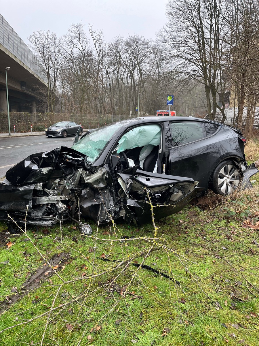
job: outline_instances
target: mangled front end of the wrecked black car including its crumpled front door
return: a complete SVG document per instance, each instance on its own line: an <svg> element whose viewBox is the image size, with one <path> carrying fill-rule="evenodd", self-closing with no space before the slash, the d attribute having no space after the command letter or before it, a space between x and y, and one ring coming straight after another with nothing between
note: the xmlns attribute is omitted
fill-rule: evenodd
<svg viewBox="0 0 259 346"><path fill-rule="evenodd" d="M13 166L0 184L0 219L51 226L81 219L109 222L151 221L150 201L157 219L183 208L194 196L191 178L156 174L131 167L115 175L109 164L95 167L87 156L67 147L30 155ZM148 194L147 194L148 193Z"/></svg>

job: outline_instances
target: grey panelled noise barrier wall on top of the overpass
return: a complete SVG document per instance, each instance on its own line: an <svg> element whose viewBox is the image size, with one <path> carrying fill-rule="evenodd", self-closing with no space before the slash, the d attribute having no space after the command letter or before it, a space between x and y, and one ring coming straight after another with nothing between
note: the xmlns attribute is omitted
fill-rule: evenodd
<svg viewBox="0 0 259 346"><path fill-rule="evenodd" d="M0 14L0 43L15 55L23 64L29 67L36 76L47 83L43 67L30 48L23 42L16 31Z"/></svg>

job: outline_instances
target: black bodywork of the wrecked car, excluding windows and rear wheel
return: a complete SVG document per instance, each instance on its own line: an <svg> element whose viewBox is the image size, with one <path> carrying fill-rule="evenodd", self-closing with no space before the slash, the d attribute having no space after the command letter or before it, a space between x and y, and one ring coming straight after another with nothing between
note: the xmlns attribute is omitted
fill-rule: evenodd
<svg viewBox="0 0 259 346"><path fill-rule="evenodd" d="M24 224L28 208L27 222L34 225L50 226L61 222L61 219L63 221L80 219L80 215L92 218L96 222L107 222L111 217L116 219L123 216L128 222L143 224L151 220L150 205L145 192L145 187L148 188L149 184L148 177L152 177L151 180L156 182L150 187L151 191L159 186L162 187L161 193L150 194L152 203L159 206L155 211L155 218L159 219L181 210L199 190L206 191L212 170L222 160L231 157L236 160L237 165L241 162L245 164L242 145L239 143L240 148L237 144L238 131L220 124L220 129L212 136L171 147L169 135L163 130L168 128L170 121L210 122L189 117L145 117L123 120L122 126L112 140L91 164L87 162L86 155L67 147L30 155L13 166L6 173L6 180L0 185L0 219L8 220L7 214L10 213L14 220ZM121 176L115 174L114 166L118 158L115 160L112 152L118 139L126 131L148 124L159 124L162 129L160 155L162 157L164 153L162 158L167 160L168 174L139 171L137 167L125 170ZM222 129L224 135L220 140L215 140L215 135L218 136ZM201 153L204 150L205 158ZM204 168L205 172L202 171ZM184 172L190 177L182 177ZM118 176L122 179L121 183L118 182ZM141 184L138 176L147 182ZM201 182L199 190L195 188L196 177L199 177ZM168 181L172 180L174 182L170 186ZM123 181L127 186L124 192L120 185ZM131 190L134 184L140 186L139 193L141 193L138 195L136 191ZM78 213L79 210L81 214Z"/></svg>

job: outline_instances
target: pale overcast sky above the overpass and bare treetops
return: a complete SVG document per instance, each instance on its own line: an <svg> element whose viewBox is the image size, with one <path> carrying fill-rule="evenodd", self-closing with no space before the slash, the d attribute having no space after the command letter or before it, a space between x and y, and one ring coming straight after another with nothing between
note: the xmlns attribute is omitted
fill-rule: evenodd
<svg viewBox="0 0 259 346"><path fill-rule="evenodd" d="M10 0L1 1L0 13L21 39L37 30L66 34L72 23L82 21L103 30L105 40L117 35L155 38L166 21L167 0Z"/></svg>

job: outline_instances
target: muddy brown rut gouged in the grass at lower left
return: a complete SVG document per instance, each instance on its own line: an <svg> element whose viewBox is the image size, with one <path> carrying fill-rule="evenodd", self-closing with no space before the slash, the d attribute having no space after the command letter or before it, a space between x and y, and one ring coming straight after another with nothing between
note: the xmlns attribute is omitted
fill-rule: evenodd
<svg viewBox="0 0 259 346"><path fill-rule="evenodd" d="M49 263L52 267L55 267L58 265L56 271L59 271L62 269L62 263L67 262L69 260L70 256L66 253L60 253L54 255L51 260L49 260ZM48 272L48 275L46 275L46 272ZM36 273L31 275L30 273L27 274L28 279L22 284L21 291L17 292L14 295L6 296L6 299L2 302L0 302L0 315L10 308L14 303L16 303L18 300L23 298L26 294L28 294L31 291L27 290L33 290L36 288L39 288L42 284L42 282L49 280L51 276L54 275L54 270L47 265L42 265L40 268L36 270ZM15 288L12 289L12 291L15 292ZM17 290L16 290L17 291ZM27 292L26 292L27 291ZM32 303L37 303L36 300L32 301Z"/></svg>

